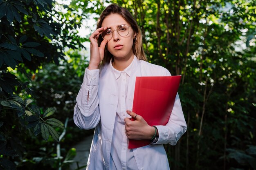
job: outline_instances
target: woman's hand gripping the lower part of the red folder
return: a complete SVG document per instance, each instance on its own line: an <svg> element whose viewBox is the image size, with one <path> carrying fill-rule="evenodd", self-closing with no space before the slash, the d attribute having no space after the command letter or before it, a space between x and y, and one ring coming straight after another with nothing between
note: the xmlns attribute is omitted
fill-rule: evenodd
<svg viewBox="0 0 256 170"><path fill-rule="evenodd" d="M132 118L135 118L134 121L132 121L131 118L128 118L128 117L124 119L126 136L128 137L128 139L150 140L155 134L155 128L152 126L149 126L148 123L140 115L137 115L136 113L130 110L126 110L126 112Z"/></svg>

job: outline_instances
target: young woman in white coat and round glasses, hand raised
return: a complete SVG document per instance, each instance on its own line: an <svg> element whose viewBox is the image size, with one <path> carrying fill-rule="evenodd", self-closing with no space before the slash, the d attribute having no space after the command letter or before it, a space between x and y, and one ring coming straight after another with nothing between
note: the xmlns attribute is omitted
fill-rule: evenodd
<svg viewBox="0 0 256 170"><path fill-rule="evenodd" d="M90 42L90 62L74 107L75 124L95 128L87 169L170 169L162 144L175 145L186 132L179 96L166 126L149 126L132 112L132 102L137 76L171 74L146 62L139 26L117 4L101 13ZM128 149L128 139L147 139L151 144Z"/></svg>

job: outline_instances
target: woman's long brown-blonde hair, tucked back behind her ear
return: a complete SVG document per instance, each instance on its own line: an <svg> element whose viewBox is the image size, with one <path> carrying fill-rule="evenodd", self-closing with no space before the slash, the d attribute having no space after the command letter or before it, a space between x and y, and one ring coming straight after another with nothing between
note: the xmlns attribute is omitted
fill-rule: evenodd
<svg viewBox="0 0 256 170"><path fill-rule="evenodd" d="M138 26L137 22L132 17L132 14L128 11L128 9L126 9L124 7L120 7L118 4L110 4L108 7L106 7L102 11L102 13L99 17L99 20L97 22L97 29L101 27L101 24L102 24L103 20L108 15L115 14L115 13L121 15L124 18L124 20L126 20L128 23L130 23L133 31L135 33L137 33L135 41L132 45L132 51L137 56L137 58L139 60L147 61L147 58L146 58L146 55L144 53L144 49L143 49L143 46L142 46L141 30L139 29L139 26ZM99 36L99 39L98 39L98 45L99 46L100 46L102 41L103 41L102 37ZM113 60L113 55L105 47L104 58L103 58L103 61L102 61L101 64L104 65L105 63L109 63L111 59Z"/></svg>

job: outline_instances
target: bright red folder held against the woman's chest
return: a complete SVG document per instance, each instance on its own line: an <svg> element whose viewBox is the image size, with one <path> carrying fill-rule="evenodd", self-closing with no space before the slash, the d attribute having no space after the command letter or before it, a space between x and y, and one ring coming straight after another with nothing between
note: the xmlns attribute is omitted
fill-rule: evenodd
<svg viewBox="0 0 256 170"><path fill-rule="evenodd" d="M148 125L166 125L180 85L181 75L136 77L132 111ZM134 120L134 119L132 119ZM129 149L150 144L149 140L129 140Z"/></svg>

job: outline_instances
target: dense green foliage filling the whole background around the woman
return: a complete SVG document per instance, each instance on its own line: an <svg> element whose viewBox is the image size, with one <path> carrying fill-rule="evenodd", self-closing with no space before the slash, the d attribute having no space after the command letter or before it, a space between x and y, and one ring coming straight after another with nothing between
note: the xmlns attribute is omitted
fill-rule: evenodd
<svg viewBox="0 0 256 170"><path fill-rule="evenodd" d="M179 94L188 130L176 146L165 145L171 169L255 169L256 2L111 2L128 8L135 16L149 62L168 68L173 75L182 75ZM65 53L64 49L82 48L81 42L88 39L76 36L77 26L83 20L97 20L109 3L73 0L61 5L51 0L0 0L1 102L16 107L10 109L6 102L0 106L0 147L13 148L15 152L9 154L19 155L14 159L11 155L1 157L2 167L8 163L13 167L13 160L21 169L59 167L61 158L56 158L53 138L46 142L35 137L32 128L26 129L32 123L25 118L28 115L18 117L17 109L22 106L33 114L31 104L24 105L32 98L41 112L52 107L61 121L72 117L88 62L81 57L83 54ZM59 62L64 55L70 60ZM45 64L52 61L60 65ZM19 96L23 105L13 103L13 95ZM45 120L42 115L43 112L40 121ZM64 155L72 141L81 139L84 132L74 124L68 127L60 141L66 148ZM11 130L7 133L7 129ZM55 130L61 132L59 127ZM32 152L25 152L22 157L19 152L24 151L21 144L25 141L27 150Z"/></svg>

